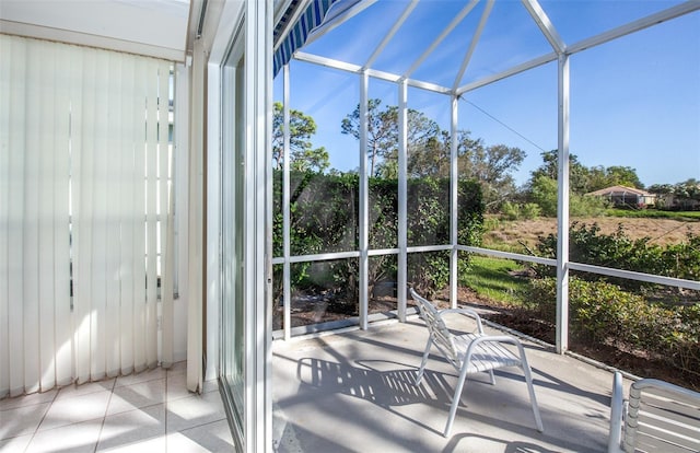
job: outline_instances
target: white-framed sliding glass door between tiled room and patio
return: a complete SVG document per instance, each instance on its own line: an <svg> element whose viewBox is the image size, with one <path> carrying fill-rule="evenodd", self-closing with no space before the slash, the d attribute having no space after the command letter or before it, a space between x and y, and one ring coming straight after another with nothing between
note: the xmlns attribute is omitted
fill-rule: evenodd
<svg viewBox="0 0 700 453"><path fill-rule="evenodd" d="M219 376L236 450L271 444L271 1L240 8L220 69ZM225 13L225 11L224 11ZM211 100L211 97L210 97ZM212 240L215 240L212 237Z"/></svg>

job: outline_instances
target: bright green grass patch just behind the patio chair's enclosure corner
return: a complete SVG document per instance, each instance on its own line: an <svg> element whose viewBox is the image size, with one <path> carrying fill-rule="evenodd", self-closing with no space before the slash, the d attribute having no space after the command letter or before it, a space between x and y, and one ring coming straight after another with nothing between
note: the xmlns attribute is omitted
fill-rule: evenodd
<svg viewBox="0 0 700 453"><path fill-rule="evenodd" d="M493 302L521 304L527 289L527 279L516 272L525 267L517 262L487 256L471 256L471 269L459 278L480 299Z"/></svg>

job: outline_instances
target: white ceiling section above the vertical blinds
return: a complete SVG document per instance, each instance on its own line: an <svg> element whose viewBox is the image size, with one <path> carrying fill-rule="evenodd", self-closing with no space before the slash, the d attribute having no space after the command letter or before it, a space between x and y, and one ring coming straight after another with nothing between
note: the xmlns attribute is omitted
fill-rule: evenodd
<svg viewBox="0 0 700 453"><path fill-rule="evenodd" d="M189 0L1 0L3 33L183 61Z"/></svg>

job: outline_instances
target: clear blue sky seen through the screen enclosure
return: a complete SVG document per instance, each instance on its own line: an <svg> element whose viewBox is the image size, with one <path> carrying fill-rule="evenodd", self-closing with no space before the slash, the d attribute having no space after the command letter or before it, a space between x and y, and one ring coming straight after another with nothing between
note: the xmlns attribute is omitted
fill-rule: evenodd
<svg viewBox="0 0 700 453"><path fill-rule="evenodd" d="M465 3L421 1L374 67L406 71ZM571 45L677 3L542 0L540 4ZM380 0L303 51L362 65L405 5L401 0ZM452 86L482 8L480 2L411 77ZM520 1L499 0L459 85L550 50ZM570 67L570 150L584 165L631 166L648 186L700 179L700 12L575 54ZM278 76L276 100L282 98L281 82ZM397 89L370 79L370 97L396 105ZM409 89L408 100L409 107L448 129L447 96ZM325 147L331 166L341 171L359 166L358 142L340 133L342 118L358 101L357 76L292 62L291 107L314 118L318 126L314 146ZM467 93L459 102L459 128L487 144L523 149L527 158L513 175L524 183L541 164L540 152L557 148L557 63Z"/></svg>

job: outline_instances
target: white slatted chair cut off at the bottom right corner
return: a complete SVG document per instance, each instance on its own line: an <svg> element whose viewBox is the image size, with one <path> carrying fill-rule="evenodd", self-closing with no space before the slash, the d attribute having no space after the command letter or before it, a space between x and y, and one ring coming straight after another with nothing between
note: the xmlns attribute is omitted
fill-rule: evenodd
<svg viewBox="0 0 700 453"><path fill-rule="evenodd" d="M612 378L608 453L700 452L700 393L655 379L630 386L625 402L622 375Z"/></svg>

